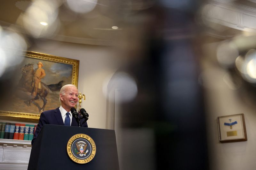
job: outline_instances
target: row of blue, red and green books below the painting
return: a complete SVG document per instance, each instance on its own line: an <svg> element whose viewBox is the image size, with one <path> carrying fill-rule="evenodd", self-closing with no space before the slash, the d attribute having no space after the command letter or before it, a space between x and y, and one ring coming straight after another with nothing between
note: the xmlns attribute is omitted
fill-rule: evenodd
<svg viewBox="0 0 256 170"><path fill-rule="evenodd" d="M0 122L0 139L32 140L37 125Z"/></svg>

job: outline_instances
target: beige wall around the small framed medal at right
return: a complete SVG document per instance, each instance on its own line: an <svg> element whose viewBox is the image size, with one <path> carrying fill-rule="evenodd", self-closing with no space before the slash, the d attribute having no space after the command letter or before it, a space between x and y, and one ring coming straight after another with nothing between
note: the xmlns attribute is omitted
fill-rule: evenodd
<svg viewBox="0 0 256 170"><path fill-rule="evenodd" d="M243 83L235 89L228 71L210 56L214 44L207 45L203 62L204 97L206 104L206 127L209 163L211 170L251 170L256 163L256 107L253 93L246 93ZM230 78L230 79L229 79ZM247 141L220 143L217 117L244 113Z"/></svg>

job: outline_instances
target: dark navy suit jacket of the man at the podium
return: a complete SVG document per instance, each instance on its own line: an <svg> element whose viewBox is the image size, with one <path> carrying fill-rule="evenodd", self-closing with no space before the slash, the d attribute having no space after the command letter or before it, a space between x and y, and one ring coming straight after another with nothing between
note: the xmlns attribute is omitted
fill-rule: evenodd
<svg viewBox="0 0 256 170"><path fill-rule="evenodd" d="M78 115L80 118L81 115ZM80 119L81 127L88 127L87 122L82 124L84 122L84 119ZM36 131L34 134L34 138L31 141L31 144L36 140L36 137L38 136L39 132L41 131L44 124L57 124L57 125L64 125L63 119L61 117L60 109L54 109L54 110L47 110L41 113L39 122L36 127ZM78 126L78 123L76 122L75 117L72 117L71 126Z"/></svg>

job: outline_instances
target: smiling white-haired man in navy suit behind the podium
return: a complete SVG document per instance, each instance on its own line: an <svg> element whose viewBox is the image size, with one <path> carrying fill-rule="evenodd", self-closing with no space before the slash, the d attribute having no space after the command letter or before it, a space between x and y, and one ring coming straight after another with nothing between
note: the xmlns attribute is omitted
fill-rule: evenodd
<svg viewBox="0 0 256 170"><path fill-rule="evenodd" d="M57 124L57 125L67 125L67 126L78 126L75 117L72 117L70 109L76 106L78 102L78 90L75 85L67 84L60 89L61 105L59 108L54 110L47 110L41 113L39 122L36 127L34 138L31 144L36 140L39 132L41 131L44 124ZM80 115L78 115L81 117ZM82 124L84 119L80 120L81 127L88 127L85 122Z"/></svg>

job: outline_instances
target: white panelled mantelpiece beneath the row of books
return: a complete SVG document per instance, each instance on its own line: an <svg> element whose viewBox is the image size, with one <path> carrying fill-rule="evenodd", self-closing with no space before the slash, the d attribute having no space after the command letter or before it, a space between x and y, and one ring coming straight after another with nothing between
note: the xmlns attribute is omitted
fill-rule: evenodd
<svg viewBox="0 0 256 170"><path fill-rule="evenodd" d="M27 170L31 141L0 139L0 170Z"/></svg>

